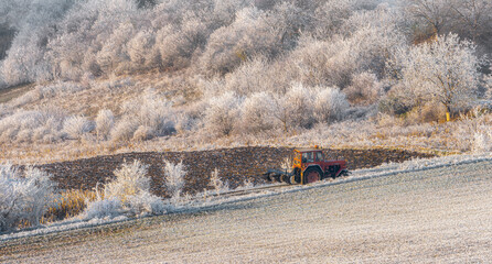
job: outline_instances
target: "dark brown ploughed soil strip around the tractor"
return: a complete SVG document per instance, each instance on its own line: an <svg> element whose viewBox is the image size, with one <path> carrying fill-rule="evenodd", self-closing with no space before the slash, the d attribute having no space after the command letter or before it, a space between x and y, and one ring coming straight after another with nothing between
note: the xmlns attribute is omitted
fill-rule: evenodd
<svg viewBox="0 0 492 264"><path fill-rule="evenodd" d="M115 175L113 172L124 163L139 160L149 165L151 190L159 196L168 196L163 187L163 160L183 162L188 174L184 193L195 194L210 188L211 172L220 169L220 177L232 188L249 179L255 185L265 184L263 176L269 168L280 168L285 157L293 148L245 146L213 151L194 152L148 152L125 153L110 156L96 156L72 162L39 165L36 167L53 175L61 189L94 189L97 183L105 184ZM399 150L323 150L327 160L344 158L349 170L374 167L388 162L403 162L413 157L431 157L431 154Z"/></svg>

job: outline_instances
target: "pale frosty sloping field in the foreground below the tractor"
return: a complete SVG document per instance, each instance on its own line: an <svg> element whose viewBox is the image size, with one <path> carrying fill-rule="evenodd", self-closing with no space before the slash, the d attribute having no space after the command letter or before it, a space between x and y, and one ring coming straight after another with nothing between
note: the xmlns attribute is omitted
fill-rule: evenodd
<svg viewBox="0 0 492 264"><path fill-rule="evenodd" d="M3 243L3 245L2 245ZM492 162L0 242L7 263L486 263Z"/></svg>

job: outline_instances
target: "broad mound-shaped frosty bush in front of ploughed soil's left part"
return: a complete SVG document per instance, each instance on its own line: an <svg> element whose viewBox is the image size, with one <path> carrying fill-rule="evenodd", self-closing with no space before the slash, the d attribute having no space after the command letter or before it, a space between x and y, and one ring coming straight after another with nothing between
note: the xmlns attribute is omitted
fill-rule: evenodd
<svg viewBox="0 0 492 264"><path fill-rule="evenodd" d="M114 172L116 178L104 186L103 194L97 191L97 199L88 201L84 218L114 218L117 216L142 216L163 213L162 200L150 194L148 165L139 161L125 163Z"/></svg>

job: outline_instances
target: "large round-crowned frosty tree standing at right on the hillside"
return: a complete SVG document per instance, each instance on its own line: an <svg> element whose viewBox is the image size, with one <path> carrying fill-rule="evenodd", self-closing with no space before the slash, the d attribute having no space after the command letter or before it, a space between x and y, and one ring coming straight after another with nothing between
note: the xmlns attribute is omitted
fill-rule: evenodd
<svg viewBox="0 0 492 264"><path fill-rule="evenodd" d="M479 82L480 59L475 45L458 35L439 36L408 52L399 53L400 81L416 98L434 100L452 110L474 96Z"/></svg>

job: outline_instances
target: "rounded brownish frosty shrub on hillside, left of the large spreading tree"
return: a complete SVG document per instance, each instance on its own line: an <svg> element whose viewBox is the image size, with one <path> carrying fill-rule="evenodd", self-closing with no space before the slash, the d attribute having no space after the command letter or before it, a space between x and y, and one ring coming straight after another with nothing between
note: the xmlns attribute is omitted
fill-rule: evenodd
<svg viewBox="0 0 492 264"><path fill-rule="evenodd" d="M352 84L343 90L354 105L367 106L378 101L383 87L375 74L364 72L352 78Z"/></svg>

